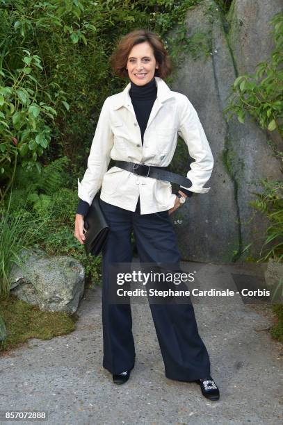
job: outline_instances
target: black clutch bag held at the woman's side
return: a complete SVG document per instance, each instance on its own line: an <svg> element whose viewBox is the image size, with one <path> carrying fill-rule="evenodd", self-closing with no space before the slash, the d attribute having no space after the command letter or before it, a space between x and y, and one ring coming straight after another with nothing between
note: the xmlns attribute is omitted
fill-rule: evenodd
<svg viewBox="0 0 283 425"><path fill-rule="evenodd" d="M86 255L98 256L104 244L106 243L109 233L109 227L106 218L100 206L99 194L96 194L86 217L84 217L85 242L84 247Z"/></svg>

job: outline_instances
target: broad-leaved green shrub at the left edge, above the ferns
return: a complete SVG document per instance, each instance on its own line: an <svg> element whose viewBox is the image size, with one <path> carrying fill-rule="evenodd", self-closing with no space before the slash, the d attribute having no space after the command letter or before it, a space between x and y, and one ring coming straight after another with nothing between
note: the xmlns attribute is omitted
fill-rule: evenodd
<svg viewBox="0 0 283 425"><path fill-rule="evenodd" d="M35 165L40 170L38 157L51 140L48 123L56 116L54 102L36 78L42 69L39 56L22 49L22 61L22 67L10 70L2 66L0 71L0 182L9 182L2 199L13 183L18 156L26 169Z"/></svg>

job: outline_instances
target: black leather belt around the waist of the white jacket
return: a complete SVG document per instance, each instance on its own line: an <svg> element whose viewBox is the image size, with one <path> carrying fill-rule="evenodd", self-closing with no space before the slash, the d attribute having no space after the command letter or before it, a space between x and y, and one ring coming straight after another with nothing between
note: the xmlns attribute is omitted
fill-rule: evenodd
<svg viewBox="0 0 283 425"><path fill-rule="evenodd" d="M168 171L168 167L155 167L153 165L144 165L139 163L129 163L128 161L115 161L115 167L129 171L137 176L158 178L159 180L170 181L191 188L193 185L189 178Z"/></svg>

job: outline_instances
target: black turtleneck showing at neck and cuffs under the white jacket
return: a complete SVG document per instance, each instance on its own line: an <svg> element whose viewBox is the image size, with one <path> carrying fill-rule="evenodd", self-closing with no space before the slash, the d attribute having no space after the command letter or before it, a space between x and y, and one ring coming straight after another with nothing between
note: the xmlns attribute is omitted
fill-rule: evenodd
<svg viewBox="0 0 283 425"><path fill-rule="evenodd" d="M147 122L149 119L149 115L152 110L152 106L156 99L157 95L157 86L155 82L155 78L152 78L151 81L144 85L136 85L131 81L131 88L129 90L129 95L131 97L131 103L134 106L134 111L136 114L136 119L138 121L138 125L140 126L140 135L143 144L143 135L145 133L145 128L147 128ZM194 192L190 190L186 190L180 188L182 192L184 192L188 197L191 197ZM88 202L79 200L78 208L76 209L77 214L86 215L88 213Z"/></svg>

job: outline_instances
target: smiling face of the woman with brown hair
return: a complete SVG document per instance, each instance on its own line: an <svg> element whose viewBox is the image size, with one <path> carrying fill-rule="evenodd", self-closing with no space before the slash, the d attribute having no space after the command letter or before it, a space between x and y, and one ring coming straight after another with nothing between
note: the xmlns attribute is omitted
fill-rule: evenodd
<svg viewBox="0 0 283 425"><path fill-rule="evenodd" d="M151 45L148 42L135 44L126 65L130 80L136 85L145 85L152 80L158 67Z"/></svg>

